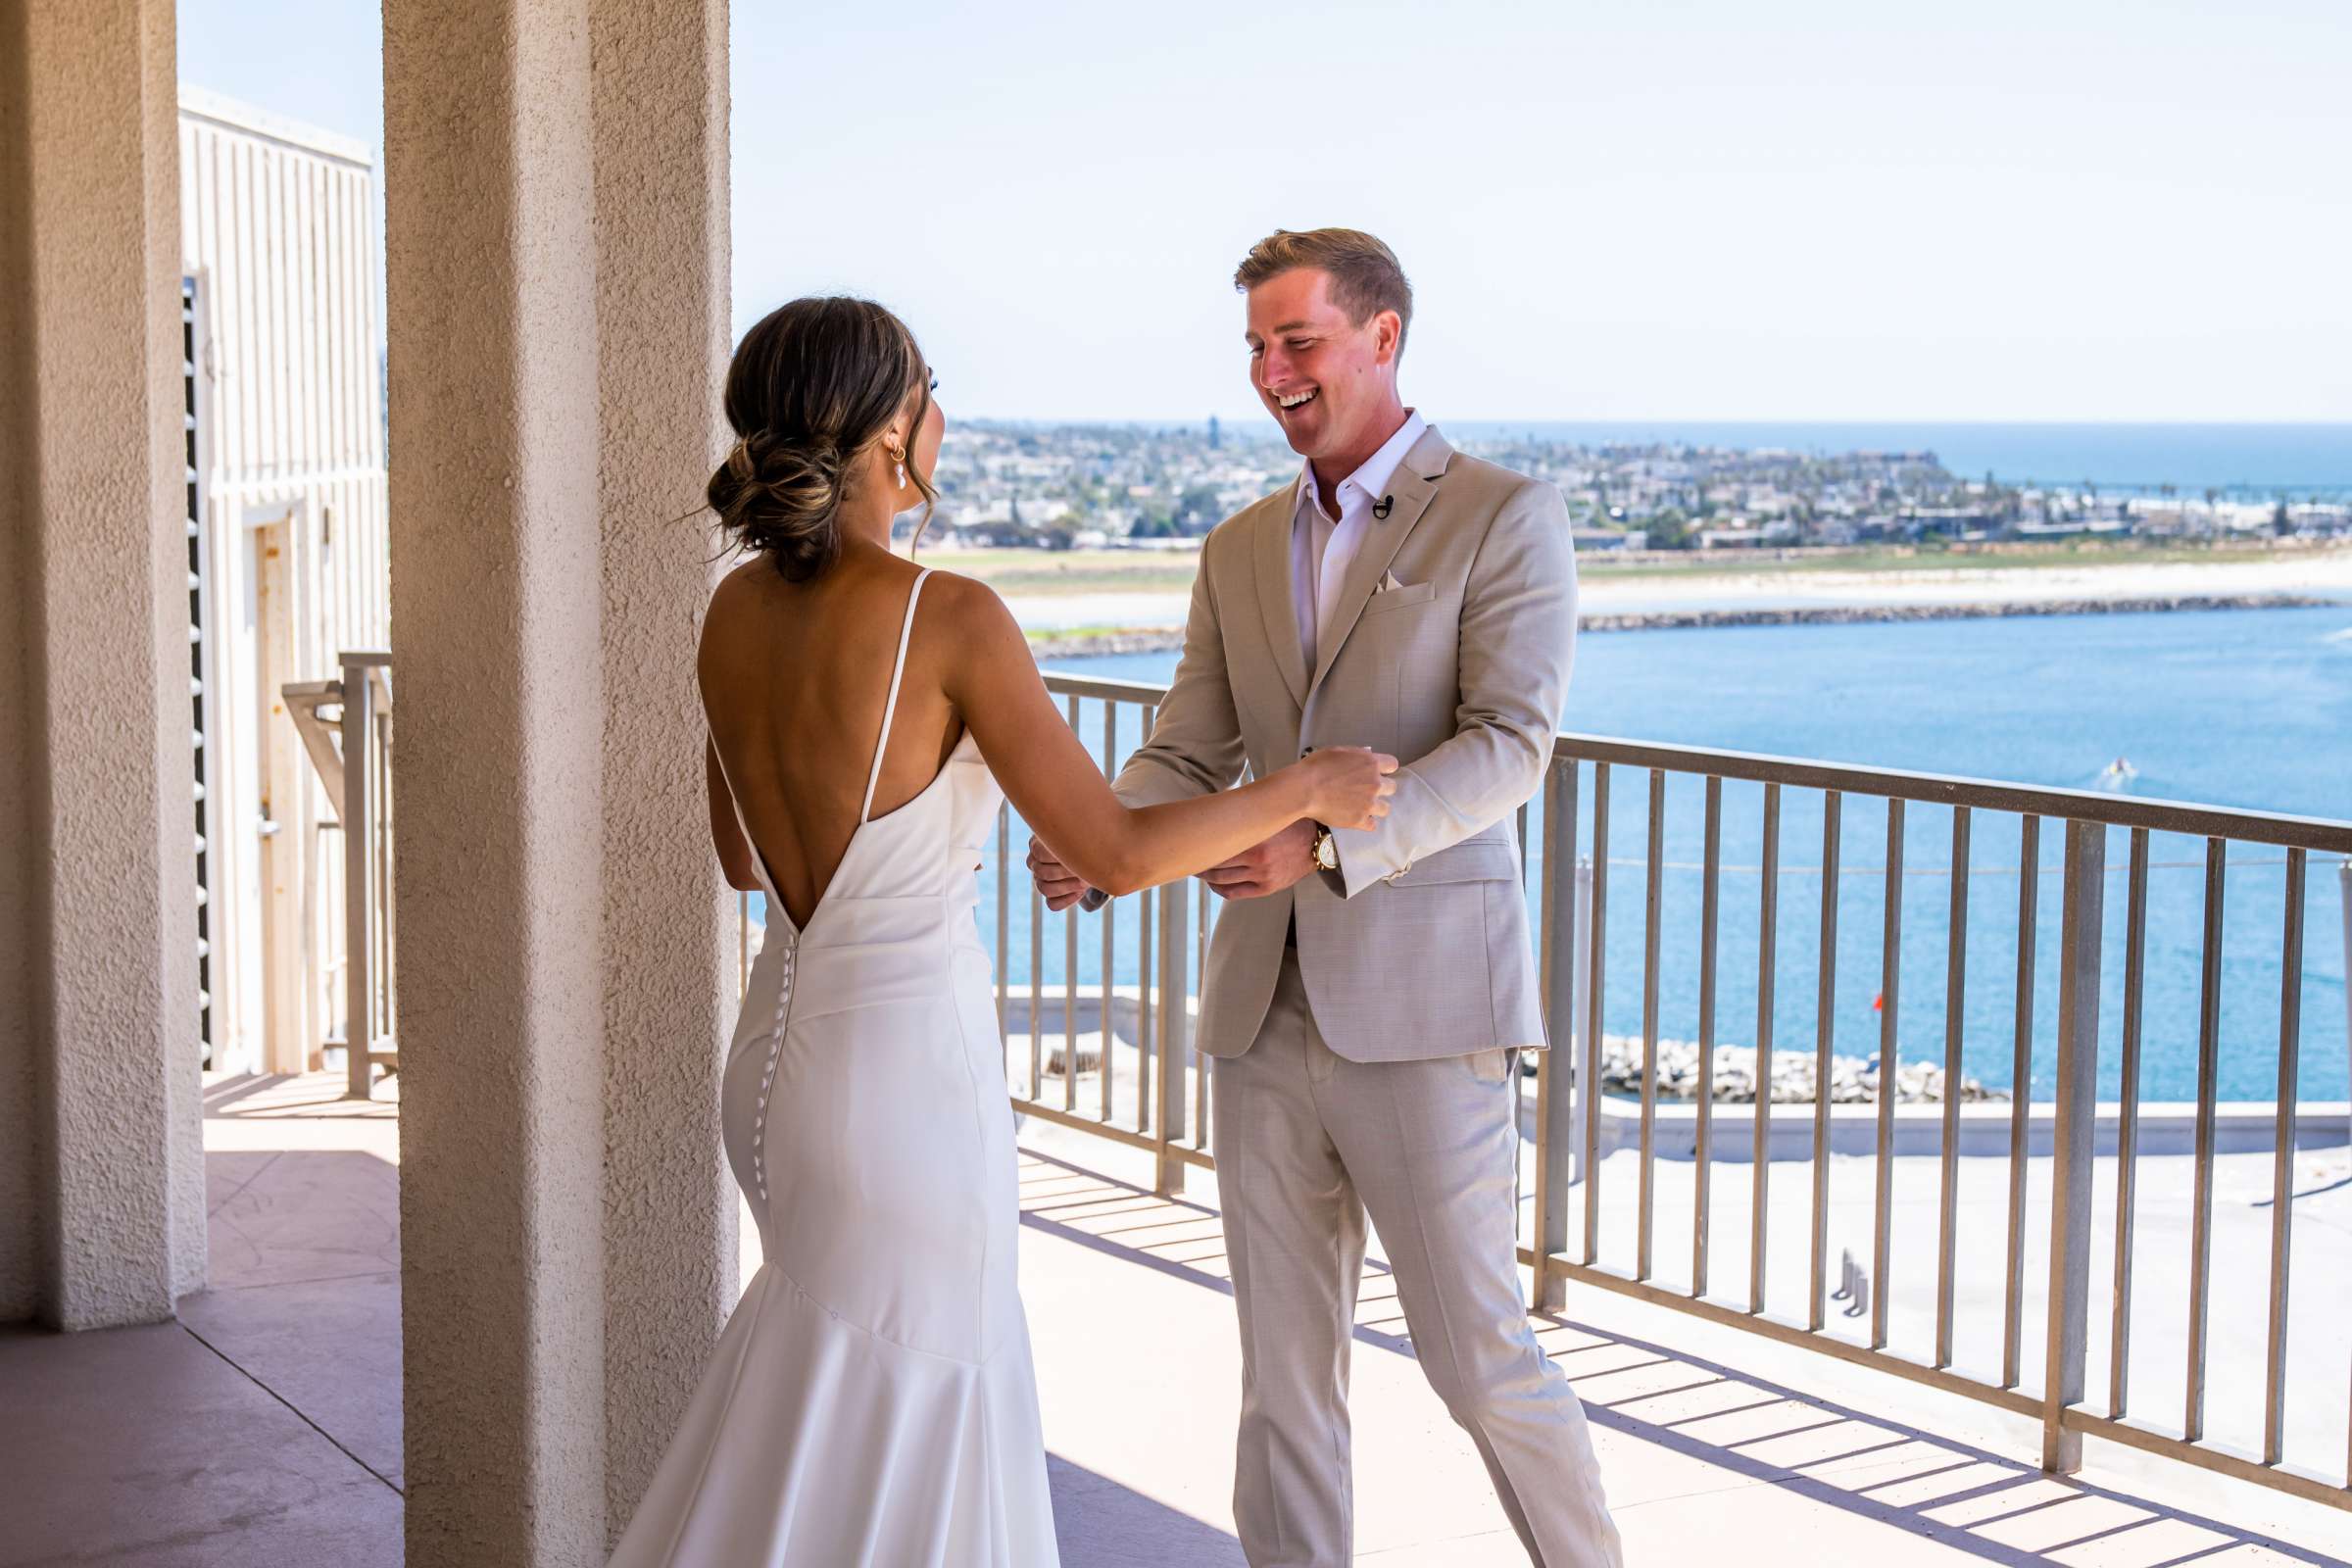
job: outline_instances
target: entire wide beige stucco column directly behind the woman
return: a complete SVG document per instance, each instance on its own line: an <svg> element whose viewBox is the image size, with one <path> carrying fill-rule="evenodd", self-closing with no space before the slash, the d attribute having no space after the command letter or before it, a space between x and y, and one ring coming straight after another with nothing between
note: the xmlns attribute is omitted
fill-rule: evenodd
<svg viewBox="0 0 2352 1568"><path fill-rule="evenodd" d="M409 1561L602 1563L736 1298L727 12L390 0L383 75Z"/></svg>

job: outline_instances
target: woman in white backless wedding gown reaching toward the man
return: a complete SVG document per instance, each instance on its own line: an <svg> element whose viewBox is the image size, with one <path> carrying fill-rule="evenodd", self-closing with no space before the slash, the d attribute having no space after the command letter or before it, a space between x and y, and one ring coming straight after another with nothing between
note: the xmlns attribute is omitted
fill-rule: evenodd
<svg viewBox="0 0 2352 1568"><path fill-rule="evenodd" d="M1122 806L1004 602L917 569L943 418L882 306L800 299L736 348L710 505L753 559L699 682L710 832L767 893L727 1053L727 1161L764 1262L614 1568L1056 1561L993 976L971 910L997 804L1115 893L1312 818L1388 813L1395 757L1329 748Z"/></svg>

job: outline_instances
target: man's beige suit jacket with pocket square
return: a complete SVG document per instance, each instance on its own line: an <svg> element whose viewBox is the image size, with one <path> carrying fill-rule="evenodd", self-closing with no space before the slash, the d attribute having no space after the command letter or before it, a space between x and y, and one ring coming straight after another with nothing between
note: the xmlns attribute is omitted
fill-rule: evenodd
<svg viewBox="0 0 2352 1568"><path fill-rule="evenodd" d="M1200 1048L1251 1046L1298 919L1315 1025L1352 1060L1541 1048L1515 813L1543 780L1576 649L1576 555L1552 484L1463 456L1430 428L1367 524L1322 658L1305 668L1284 484L1200 552L1183 658L1150 738L1120 769L1129 804L1225 790L1312 745L1392 752L1397 792L1341 830L1338 872L1223 905ZM1392 578L1395 588L1381 588Z"/></svg>

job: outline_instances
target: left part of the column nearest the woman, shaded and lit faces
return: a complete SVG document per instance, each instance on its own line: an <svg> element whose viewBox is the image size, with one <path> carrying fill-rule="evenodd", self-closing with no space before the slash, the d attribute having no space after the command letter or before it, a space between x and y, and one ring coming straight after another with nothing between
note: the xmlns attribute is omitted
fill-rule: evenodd
<svg viewBox="0 0 2352 1568"><path fill-rule="evenodd" d="M407 1561L593 1566L604 698L588 0L386 0L383 172Z"/></svg>

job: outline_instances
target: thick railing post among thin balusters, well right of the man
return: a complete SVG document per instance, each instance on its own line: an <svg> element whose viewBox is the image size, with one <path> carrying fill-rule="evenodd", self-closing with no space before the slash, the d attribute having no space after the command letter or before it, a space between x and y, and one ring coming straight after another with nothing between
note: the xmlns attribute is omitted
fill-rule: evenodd
<svg viewBox="0 0 2352 1568"><path fill-rule="evenodd" d="M2091 1168L2098 1133L2098 969L2107 905L2107 825L2067 820L2058 905L2058 1081L2051 1107L2051 1274L2042 1349L2042 1469L2082 1469L2082 1403L2091 1345Z"/></svg>

